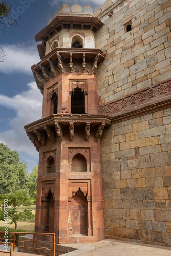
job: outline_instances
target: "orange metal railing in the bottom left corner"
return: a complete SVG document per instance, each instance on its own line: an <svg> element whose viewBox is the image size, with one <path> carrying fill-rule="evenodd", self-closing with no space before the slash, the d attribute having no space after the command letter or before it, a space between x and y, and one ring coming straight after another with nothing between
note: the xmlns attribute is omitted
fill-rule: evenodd
<svg viewBox="0 0 171 256"><path fill-rule="evenodd" d="M5 238L1 238L1 234L5 234L5 232L0 232L0 239L1 240L5 240ZM44 250L44 251L53 251L53 256L55 256L55 234L54 233L20 233L20 232L8 232L8 234L14 234L14 239L8 239L10 241L13 241L12 246L13 246L13 251L15 249L15 247L18 247L18 248L26 248L26 249L32 249L32 254L34 254L34 251L35 250ZM17 234L32 234L33 235L33 241L30 241L30 240L20 240L20 239L16 239L16 235ZM49 242L49 241L42 241L42 240L35 240L35 236L53 236L53 242ZM26 246L18 246L18 245L15 245L15 242L16 241L20 241L20 242L33 242L33 246L32 247L26 247ZM44 249L44 248L36 248L35 247L35 243L53 243L53 250L52 249ZM0 243L3 243L3 242L0 242ZM9 243L10 244L10 243ZM11 247L12 247L11 246ZM10 256L12 256L12 254L10 254Z"/></svg>

